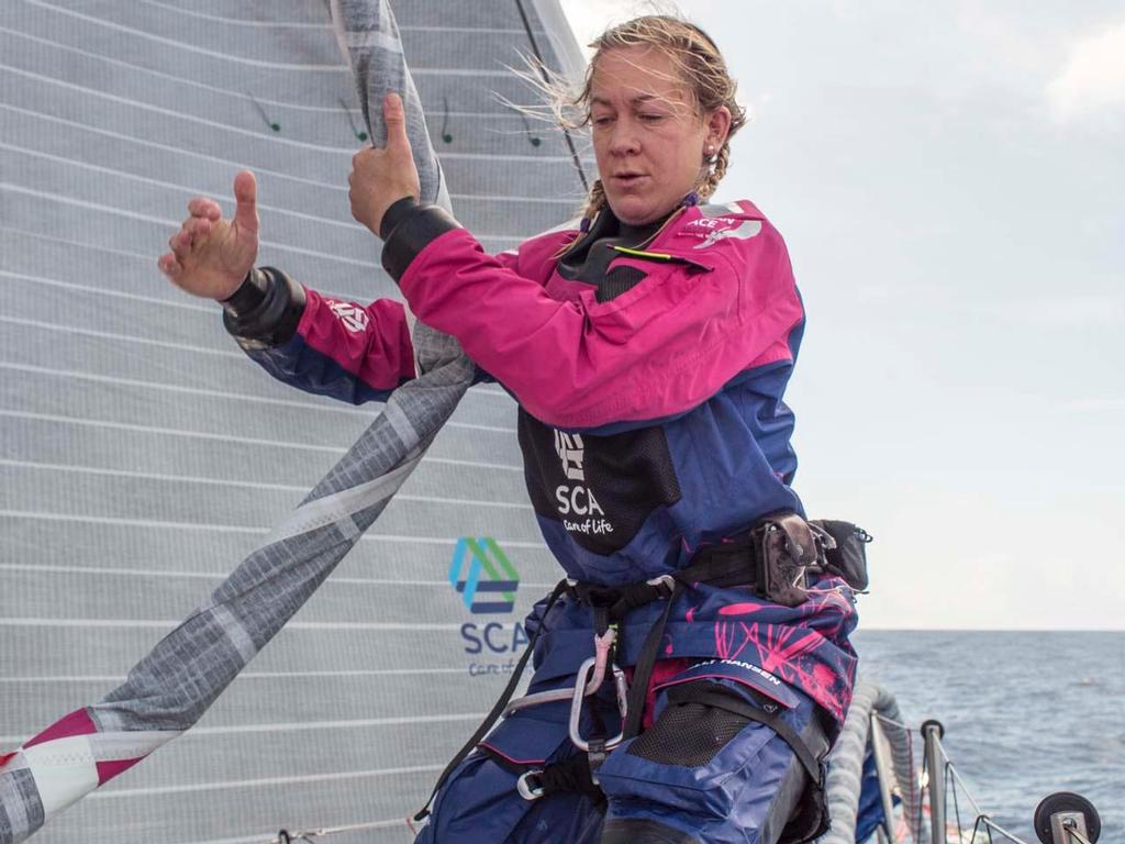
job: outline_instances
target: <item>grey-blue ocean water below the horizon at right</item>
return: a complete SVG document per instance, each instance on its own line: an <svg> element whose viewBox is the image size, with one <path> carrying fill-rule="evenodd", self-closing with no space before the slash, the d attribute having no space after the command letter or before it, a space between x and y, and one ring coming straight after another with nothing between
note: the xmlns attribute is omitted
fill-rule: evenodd
<svg viewBox="0 0 1125 844"><path fill-rule="evenodd" d="M853 643L907 722L942 721L996 823L1034 844L1038 801L1073 791L1097 807L1101 842L1125 842L1125 632L861 629Z"/></svg>

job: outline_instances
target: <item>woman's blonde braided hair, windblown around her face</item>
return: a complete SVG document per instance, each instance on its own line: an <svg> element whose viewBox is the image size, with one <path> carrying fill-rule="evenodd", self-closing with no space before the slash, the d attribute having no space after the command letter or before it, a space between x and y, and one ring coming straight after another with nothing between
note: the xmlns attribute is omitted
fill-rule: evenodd
<svg viewBox="0 0 1125 844"><path fill-rule="evenodd" d="M730 164L730 138L746 125L746 109L738 105L735 95L738 83L731 79L714 42L694 24L669 15L646 15L624 24L606 29L590 44L594 55L586 68L586 78L582 90L567 105L578 110L577 120L565 120L570 128L580 128L590 124L590 98L593 88L594 71L597 60L608 51L623 47L654 47L672 60L680 81L683 81L694 99L696 115L701 118L716 109L726 106L730 111L730 129L722 146L705 160L706 174L695 189L699 199L706 199L714 194L720 180L727 173ZM561 105L561 104L559 104ZM557 108L562 117L562 109ZM593 221L605 207L605 191L601 180L593 183L586 197L583 216ZM588 224L587 224L588 225Z"/></svg>

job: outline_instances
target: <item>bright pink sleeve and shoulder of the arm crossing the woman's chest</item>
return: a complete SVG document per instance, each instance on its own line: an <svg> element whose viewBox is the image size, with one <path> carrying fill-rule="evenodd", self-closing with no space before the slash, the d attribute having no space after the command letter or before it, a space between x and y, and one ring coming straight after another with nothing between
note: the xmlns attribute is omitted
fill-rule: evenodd
<svg viewBox="0 0 1125 844"><path fill-rule="evenodd" d="M539 420L597 428L685 413L740 371L786 359L803 309L781 235L709 250L709 271L660 267L628 294L558 302L467 231L448 231L399 285L417 317L456 336ZM522 272L521 272L522 270Z"/></svg>

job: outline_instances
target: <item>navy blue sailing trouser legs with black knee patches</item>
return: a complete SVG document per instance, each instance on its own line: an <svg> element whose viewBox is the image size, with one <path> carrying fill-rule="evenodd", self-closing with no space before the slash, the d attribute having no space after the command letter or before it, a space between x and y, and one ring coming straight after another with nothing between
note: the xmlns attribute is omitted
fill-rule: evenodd
<svg viewBox="0 0 1125 844"><path fill-rule="evenodd" d="M824 749L808 698L777 710L814 753ZM598 772L609 798L604 817L579 793L520 797L522 771L565 758L573 746L565 707L516 713L489 735L486 751L453 772L416 844L775 844L807 783L790 746L726 710L670 706L666 693L657 713L652 727L610 754Z"/></svg>

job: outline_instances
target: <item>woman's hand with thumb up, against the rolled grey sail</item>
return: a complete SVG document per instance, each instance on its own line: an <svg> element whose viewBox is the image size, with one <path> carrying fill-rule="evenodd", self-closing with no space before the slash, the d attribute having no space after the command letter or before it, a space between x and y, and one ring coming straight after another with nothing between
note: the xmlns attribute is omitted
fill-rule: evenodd
<svg viewBox="0 0 1125 844"><path fill-rule="evenodd" d="M348 176L348 198L352 216L379 236L379 226L387 208L403 197L415 199L422 192L414 153L406 136L406 114L397 93L382 100L382 117L387 126L387 145L368 146L352 156Z"/></svg>

